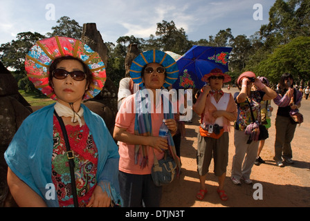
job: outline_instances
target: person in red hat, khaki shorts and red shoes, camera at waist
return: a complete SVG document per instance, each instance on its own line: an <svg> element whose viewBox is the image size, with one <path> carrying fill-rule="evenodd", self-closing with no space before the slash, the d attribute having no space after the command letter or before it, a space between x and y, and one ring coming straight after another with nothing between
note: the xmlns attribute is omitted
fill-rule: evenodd
<svg viewBox="0 0 310 221"><path fill-rule="evenodd" d="M200 190L196 197L203 200L208 192L206 175L212 156L214 157L215 175L219 178L217 193L221 200L228 197L224 191L224 180L228 164L228 146L230 122L237 118L237 108L233 95L221 90L224 83L230 81L230 76L222 73L219 68L211 70L203 76L210 86L203 86L193 111L201 115L201 126L198 133L197 171L199 173Z"/></svg>

